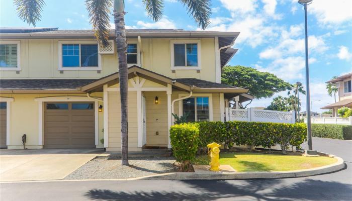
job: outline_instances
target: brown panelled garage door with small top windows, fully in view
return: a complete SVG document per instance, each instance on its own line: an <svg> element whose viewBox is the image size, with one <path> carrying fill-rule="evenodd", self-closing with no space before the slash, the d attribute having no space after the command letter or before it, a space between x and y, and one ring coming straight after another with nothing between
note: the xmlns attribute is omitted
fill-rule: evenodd
<svg viewBox="0 0 352 201"><path fill-rule="evenodd" d="M95 147L94 103L45 103L44 147Z"/></svg>

